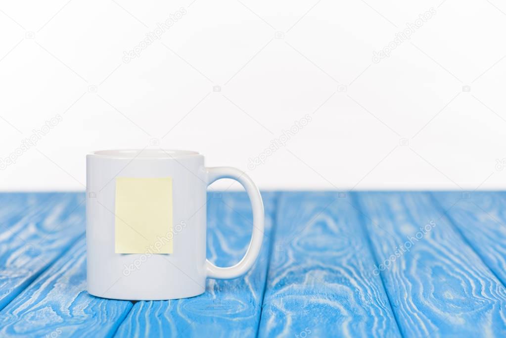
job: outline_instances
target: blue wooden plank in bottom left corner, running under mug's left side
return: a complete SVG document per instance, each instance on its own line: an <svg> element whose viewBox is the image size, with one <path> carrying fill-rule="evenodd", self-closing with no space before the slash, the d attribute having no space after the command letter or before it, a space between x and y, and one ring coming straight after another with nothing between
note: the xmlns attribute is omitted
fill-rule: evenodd
<svg viewBox="0 0 506 338"><path fill-rule="evenodd" d="M0 336L112 336L131 308L129 301L86 291L86 239L81 236L0 312Z"/></svg>

